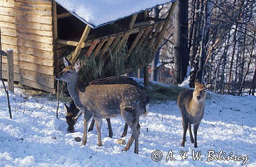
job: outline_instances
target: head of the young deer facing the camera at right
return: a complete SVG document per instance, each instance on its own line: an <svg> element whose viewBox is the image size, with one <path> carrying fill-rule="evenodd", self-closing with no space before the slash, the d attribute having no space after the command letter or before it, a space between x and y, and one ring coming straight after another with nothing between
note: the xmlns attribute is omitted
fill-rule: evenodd
<svg viewBox="0 0 256 167"><path fill-rule="evenodd" d="M193 97L198 101L202 102L206 98L206 90L211 87L211 83L200 84L198 80L195 81L195 90L193 92Z"/></svg>

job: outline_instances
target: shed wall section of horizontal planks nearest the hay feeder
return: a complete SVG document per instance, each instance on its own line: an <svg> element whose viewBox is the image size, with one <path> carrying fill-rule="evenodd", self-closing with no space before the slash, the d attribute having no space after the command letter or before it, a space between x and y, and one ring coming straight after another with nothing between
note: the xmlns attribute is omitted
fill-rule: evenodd
<svg viewBox="0 0 256 167"><path fill-rule="evenodd" d="M14 15L20 83L55 93L52 1L16 0Z"/></svg>

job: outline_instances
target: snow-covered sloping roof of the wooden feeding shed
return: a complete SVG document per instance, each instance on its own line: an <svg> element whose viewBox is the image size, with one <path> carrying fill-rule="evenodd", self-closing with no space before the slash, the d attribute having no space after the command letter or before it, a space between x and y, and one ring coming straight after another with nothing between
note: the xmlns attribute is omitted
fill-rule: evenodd
<svg viewBox="0 0 256 167"><path fill-rule="evenodd" d="M93 29L176 0L55 0Z"/></svg>

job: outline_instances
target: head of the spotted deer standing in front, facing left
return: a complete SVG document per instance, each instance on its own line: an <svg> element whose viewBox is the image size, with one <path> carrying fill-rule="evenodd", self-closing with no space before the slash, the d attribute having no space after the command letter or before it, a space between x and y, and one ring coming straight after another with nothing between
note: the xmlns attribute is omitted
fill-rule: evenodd
<svg viewBox="0 0 256 167"><path fill-rule="evenodd" d="M66 82L75 82L77 80L77 73L81 69L81 62L77 60L75 65L73 65L67 58L63 58L65 68L55 76L57 80L63 80Z"/></svg>

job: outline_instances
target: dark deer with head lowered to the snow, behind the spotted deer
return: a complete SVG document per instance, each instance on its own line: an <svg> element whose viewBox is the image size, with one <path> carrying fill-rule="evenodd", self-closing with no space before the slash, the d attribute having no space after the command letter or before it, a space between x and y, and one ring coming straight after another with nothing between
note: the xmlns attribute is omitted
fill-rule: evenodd
<svg viewBox="0 0 256 167"><path fill-rule="evenodd" d="M111 76L111 77L106 77L103 79L96 79L96 80L91 81L89 85L109 85L109 84L130 84L139 89L142 89L142 87L135 80L133 80L132 78L127 77L127 76ZM70 106L65 104L64 110L66 112L66 122L68 123L68 131L74 132L74 125L76 124L77 119L80 116L80 115L78 115L79 109L75 106L75 103L72 100L70 102ZM93 118L91 125L88 129L88 132L93 130L94 122L95 122L95 120ZM106 119L106 122L108 122L109 137L112 138L113 131L112 131L112 127L111 127L110 118ZM123 130L121 137L124 137L127 134L127 129L128 129L128 124L125 123L124 130Z"/></svg>

